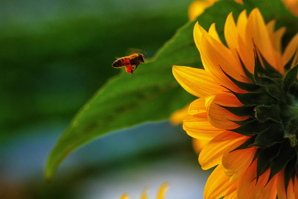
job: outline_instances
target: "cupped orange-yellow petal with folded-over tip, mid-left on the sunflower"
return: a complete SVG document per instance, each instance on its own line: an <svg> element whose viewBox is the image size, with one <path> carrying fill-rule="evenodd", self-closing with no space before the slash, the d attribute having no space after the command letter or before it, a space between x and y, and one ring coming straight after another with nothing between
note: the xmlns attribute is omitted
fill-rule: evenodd
<svg viewBox="0 0 298 199"><path fill-rule="evenodd" d="M232 93L219 93L216 95L209 95L205 99L205 109L207 111L208 121L212 126L218 129L236 129L239 127L238 124L232 121L245 120L248 117L239 117L228 110L224 109L222 106L227 107L239 107L243 106L239 100Z"/></svg>

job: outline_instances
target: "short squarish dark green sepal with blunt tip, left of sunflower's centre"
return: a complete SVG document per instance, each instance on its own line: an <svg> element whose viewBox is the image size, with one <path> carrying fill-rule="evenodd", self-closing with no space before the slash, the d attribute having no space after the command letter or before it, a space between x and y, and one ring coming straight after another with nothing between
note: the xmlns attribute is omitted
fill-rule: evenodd
<svg viewBox="0 0 298 199"><path fill-rule="evenodd" d="M255 108L255 117L260 121L271 120L274 122L280 122L280 109L276 104L271 106L259 106Z"/></svg>

